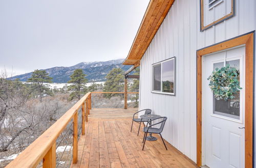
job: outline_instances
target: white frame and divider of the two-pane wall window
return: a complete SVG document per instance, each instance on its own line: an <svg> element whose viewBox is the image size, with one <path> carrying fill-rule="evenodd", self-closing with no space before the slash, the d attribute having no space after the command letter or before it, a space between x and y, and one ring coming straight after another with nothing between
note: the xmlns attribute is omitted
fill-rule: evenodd
<svg viewBox="0 0 256 168"><path fill-rule="evenodd" d="M162 64L165 63L165 62L168 62L168 61L171 61L173 60L174 61L174 93L168 93L168 92L163 92L163 88L162 88L162 85L163 85L163 82L162 82L162 74L163 74L163 66ZM156 91L156 90L153 90L154 89L154 66L157 66L157 65L161 65L161 90L160 91ZM152 79L151 79L151 93L158 93L158 94L163 94L163 95L171 95L171 96L175 96L176 95L176 57L172 57L172 58L169 58L169 59L166 59L166 60L163 60L163 61L160 61L160 62L157 62L157 63L154 63L152 64Z"/></svg>

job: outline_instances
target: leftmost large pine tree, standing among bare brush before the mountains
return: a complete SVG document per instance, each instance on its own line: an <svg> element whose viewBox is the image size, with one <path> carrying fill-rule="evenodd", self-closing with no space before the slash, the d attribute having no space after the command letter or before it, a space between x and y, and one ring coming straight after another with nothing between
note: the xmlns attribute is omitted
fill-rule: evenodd
<svg viewBox="0 0 256 168"><path fill-rule="evenodd" d="M45 70L36 69L31 78L28 79L28 82L33 82L33 89L37 90L40 98L40 102L42 101L42 96L44 93L51 95L50 89L47 88L44 83L52 83L52 77L48 76Z"/></svg>

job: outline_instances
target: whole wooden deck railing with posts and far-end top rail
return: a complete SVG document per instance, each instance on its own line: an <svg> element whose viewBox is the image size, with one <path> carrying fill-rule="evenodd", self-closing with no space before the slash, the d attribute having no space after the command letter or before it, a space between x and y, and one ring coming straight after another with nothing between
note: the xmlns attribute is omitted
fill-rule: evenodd
<svg viewBox="0 0 256 168"><path fill-rule="evenodd" d="M125 92L89 92L84 95L73 107L71 107L60 119L50 128L42 133L32 144L20 153L6 167L36 167L42 160L43 167L56 166L56 139L65 130L73 119L73 163L77 162L78 151L78 110L82 110L82 131L85 133L85 122L88 122L90 115L92 93L120 93ZM139 92L126 92L139 93Z"/></svg>

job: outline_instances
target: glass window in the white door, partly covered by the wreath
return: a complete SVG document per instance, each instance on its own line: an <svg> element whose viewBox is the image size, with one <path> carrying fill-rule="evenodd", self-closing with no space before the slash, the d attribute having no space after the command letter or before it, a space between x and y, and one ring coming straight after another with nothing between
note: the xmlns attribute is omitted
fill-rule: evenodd
<svg viewBox="0 0 256 168"><path fill-rule="evenodd" d="M240 69L240 60L226 61L226 64ZM224 62L214 63L214 70L223 66ZM214 97L214 114L240 120L240 91L234 95L233 99L227 101L224 99L217 100Z"/></svg>

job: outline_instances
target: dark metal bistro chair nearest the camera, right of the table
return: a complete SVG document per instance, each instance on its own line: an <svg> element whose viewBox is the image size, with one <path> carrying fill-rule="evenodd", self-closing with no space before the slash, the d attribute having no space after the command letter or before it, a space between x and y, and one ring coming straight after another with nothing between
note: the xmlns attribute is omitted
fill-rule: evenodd
<svg viewBox="0 0 256 168"><path fill-rule="evenodd" d="M154 120L159 120L159 119L162 119L162 121L156 123L156 124L152 124L150 126L147 126L148 122L152 122ZM160 118L157 118L157 119L154 119L154 120L151 120L151 121L148 121L147 124L146 124L146 127L143 128L143 132L144 132L144 137L143 137L143 148L142 148L142 151L144 149L144 146L145 146L145 142L146 142L146 135L147 133L157 133L161 136L162 138L162 141L163 141L163 137L161 135L162 131L163 131L163 127L164 127L164 124L165 124L165 121L167 120L167 117L160 117ZM158 124L161 124L160 125L160 128L152 128L152 126L155 126L155 125L158 125ZM163 145L165 146L165 149L167 150L167 147L163 141Z"/></svg>

